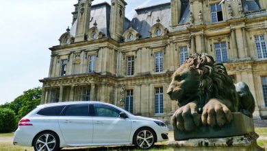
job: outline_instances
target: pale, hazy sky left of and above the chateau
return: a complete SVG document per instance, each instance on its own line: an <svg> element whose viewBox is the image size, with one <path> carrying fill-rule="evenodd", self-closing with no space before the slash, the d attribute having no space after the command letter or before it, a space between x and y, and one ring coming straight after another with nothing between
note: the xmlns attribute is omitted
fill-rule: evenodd
<svg viewBox="0 0 267 151"><path fill-rule="evenodd" d="M105 0L94 0L93 4ZM106 0L110 3L111 0ZM126 0L126 16L136 8L170 0ZM0 12L0 104L12 102L23 91L42 86L47 78L53 45L71 26L77 0L6 0Z"/></svg>

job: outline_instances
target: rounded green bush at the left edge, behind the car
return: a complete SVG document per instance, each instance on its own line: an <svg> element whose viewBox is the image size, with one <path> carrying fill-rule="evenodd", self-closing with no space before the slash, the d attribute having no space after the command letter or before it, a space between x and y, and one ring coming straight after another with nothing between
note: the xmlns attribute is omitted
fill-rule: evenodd
<svg viewBox="0 0 267 151"><path fill-rule="evenodd" d="M0 108L0 133L13 132L16 128L16 115L9 108Z"/></svg>

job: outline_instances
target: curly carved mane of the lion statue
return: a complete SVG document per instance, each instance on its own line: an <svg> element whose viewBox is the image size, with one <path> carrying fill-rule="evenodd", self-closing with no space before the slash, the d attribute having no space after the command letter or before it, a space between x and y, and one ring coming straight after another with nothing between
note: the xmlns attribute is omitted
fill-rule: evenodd
<svg viewBox="0 0 267 151"><path fill-rule="evenodd" d="M215 62L208 54L191 54L184 64L199 73L199 107L203 108L210 99L216 98L232 112L238 111L238 93L223 63Z"/></svg>

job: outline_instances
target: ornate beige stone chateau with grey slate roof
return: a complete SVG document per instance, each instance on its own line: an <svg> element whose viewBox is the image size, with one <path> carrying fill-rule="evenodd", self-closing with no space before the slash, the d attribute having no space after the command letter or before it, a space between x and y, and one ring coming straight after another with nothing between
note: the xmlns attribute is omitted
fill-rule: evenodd
<svg viewBox="0 0 267 151"><path fill-rule="evenodd" d="M267 117L267 1L171 0L137 8L124 0L75 4L73 26L53 46L42 104L101 100L135 115L168 121L177 109L166 90L194 52L224 62L249 84L255 117Z"/></svg>

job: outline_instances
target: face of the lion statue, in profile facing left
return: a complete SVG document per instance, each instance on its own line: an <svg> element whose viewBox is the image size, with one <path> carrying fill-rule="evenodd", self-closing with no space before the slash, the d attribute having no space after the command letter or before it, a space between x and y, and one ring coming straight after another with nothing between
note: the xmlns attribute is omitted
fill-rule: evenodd
<svg viewBox="0 0 267 151"><path fill-rule="evenodd" d="M179 106L183 106L199 95L199 84L199 73L194 69L190 70L188 64L183 64L173 73L167 93L171 100L177 100Z"/></svg>

